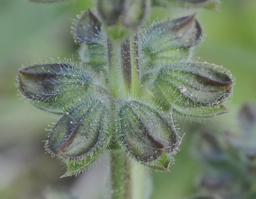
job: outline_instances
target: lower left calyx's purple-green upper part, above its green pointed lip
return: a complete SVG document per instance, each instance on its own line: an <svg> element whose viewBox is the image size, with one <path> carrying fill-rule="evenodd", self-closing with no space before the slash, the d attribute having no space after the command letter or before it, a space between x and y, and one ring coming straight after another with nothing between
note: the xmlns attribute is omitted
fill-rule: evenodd
<svg viewBox="0 0 256 199"><path fill-rule="evenodd" d="M89 98L60 118L49 135L46 150L60 158L84 158L97 148L106 147L108 134L105 103Z"/></svg>

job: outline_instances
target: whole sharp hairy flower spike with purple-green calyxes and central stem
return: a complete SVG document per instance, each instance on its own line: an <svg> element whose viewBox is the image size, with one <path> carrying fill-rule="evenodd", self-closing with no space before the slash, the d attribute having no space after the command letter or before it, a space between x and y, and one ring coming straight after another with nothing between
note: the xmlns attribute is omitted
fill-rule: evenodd
<svg viewBox="0 0 256 199"><path fill-rule="evenodd" d="M180 144L172 111L197 119L227 111L223 102L232 92L230 72L192 60L203 35L195 14L143 26L151 6L216 9L217 3L98 0L96 11L85 11L72 27L79 63L20 69L22 95L61 115L45 148L67 166L63 176L79 174L109 151L110 197L146 197L143 183L133 184L132 176L139 175L133 163L169 171Z"/></svg>

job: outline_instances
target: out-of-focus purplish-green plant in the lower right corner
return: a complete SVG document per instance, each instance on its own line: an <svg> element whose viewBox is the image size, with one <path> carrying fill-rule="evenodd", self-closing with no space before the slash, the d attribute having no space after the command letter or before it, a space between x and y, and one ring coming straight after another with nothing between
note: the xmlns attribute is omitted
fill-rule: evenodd
<svg viewBox="0 0 256 199"><path fill-rule="evenodd" d="M239 132L200 133L196 151L203 170L199 180L203 193L194 199L256 198L256 105L245 104L237 119Z"/></svg>

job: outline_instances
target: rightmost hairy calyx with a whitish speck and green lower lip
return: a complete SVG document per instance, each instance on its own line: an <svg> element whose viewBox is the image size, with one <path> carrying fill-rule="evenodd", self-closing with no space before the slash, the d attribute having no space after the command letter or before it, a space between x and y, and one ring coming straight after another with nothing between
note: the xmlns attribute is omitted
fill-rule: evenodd
<svg viewBox="0 0 256 199"><path fill-rule="evenodd" d="M208 63L174 63L162 67L152 92L160 107L185 116L212 117L226 112L222 103L232 93L233 78Z"/></svg>

